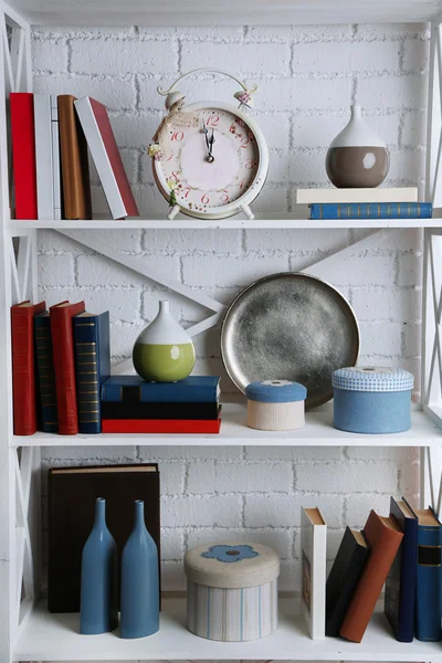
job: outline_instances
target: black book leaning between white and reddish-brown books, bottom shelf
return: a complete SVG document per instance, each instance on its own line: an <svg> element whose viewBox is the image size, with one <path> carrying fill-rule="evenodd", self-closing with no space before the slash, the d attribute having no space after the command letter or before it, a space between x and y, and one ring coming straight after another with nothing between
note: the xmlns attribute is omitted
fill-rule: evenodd
<svg viewBox="0 0 442 663"><path fill-rule="evenodd" d="M364 570L370 549L364 534L346 528L326 583L325 633L339 635L347 608Z"/></svg>

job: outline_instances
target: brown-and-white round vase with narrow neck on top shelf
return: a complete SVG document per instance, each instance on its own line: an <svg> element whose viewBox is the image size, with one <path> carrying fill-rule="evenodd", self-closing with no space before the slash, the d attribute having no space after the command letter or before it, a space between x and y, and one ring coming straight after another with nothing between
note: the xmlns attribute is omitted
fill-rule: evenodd
<svg viewBox="0 0 442 663"><path fill-rule="evenodd" d="M382 138L362 119L360 106L328 148L326 170L335 187L378 187L387 177L390 155Z"/></svg>

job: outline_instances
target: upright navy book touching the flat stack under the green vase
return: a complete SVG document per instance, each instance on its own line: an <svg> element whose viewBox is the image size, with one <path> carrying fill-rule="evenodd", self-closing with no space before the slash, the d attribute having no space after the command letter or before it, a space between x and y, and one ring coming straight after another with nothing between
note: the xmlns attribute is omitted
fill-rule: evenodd
<svg viewBox="0 0 442 663"><path fill-rule="evenodd" d="M110 375L109 312L80 313L72 318L78 432L101 433L99 390Z"/></svg>

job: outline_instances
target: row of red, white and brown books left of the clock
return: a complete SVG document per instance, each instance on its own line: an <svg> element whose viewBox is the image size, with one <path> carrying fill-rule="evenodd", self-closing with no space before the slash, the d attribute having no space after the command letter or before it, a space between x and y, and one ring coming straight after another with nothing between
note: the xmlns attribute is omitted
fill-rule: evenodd
<svg viewBox="0 0 442 663"><path fill-rule="evenodd" d="M10 104L15 219L92 219L87 146L114 219L138 215L103 104L24 92Z"/></svg>

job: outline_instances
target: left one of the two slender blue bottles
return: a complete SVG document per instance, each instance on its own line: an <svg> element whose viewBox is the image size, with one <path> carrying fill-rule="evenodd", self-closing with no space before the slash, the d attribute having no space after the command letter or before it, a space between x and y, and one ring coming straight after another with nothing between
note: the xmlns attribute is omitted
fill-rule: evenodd
<svg viewBox="0 0 442 663"><path fill-rule="evenodd" d="M117 547L106 526L106 501L98 497L82 556L80 633L93 635L117 628Z"/></svg>

